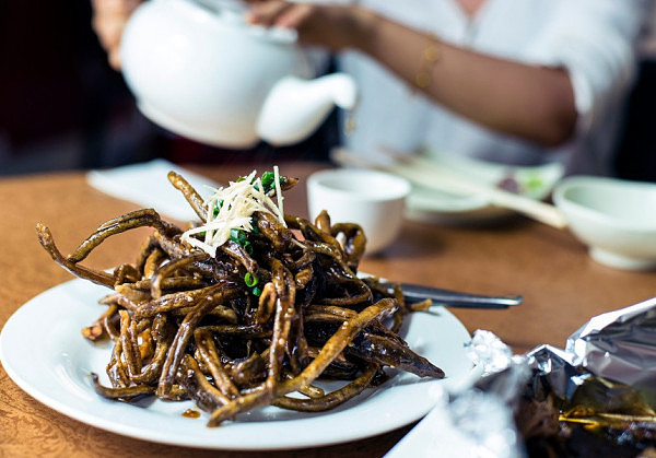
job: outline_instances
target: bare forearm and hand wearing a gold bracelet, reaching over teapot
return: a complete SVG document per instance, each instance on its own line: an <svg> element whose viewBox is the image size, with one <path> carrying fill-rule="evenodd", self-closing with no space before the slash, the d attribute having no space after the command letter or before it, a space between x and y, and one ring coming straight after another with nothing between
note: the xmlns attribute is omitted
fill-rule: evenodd
<svg viewBox="0 0 656 458"><path fill-rule="evenodd" d="M575 130L576 107L564 69L513 62L453 46L360 7L256 2L249 21L293 27L300 39L376 59L448 109L488 128L553 146ZM511 26L511 25L509 25ZM437 51L431 62L424 52Z"/></svg>

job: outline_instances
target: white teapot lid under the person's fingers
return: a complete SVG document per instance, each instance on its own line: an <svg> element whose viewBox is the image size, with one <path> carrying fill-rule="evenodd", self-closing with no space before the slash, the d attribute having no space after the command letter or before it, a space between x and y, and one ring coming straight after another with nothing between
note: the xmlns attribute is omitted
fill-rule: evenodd
<svg viewBox="0 0 656 458"><path fill-rule="evenodd" d="M296 42L296 31L283 27L262 27L253 25L244 21L248 5L243 0L186 0L187 2L201 8L207 13L214 17L234 25L244 27L247 32L261 36L263 38L273 39L276 42Z"/></svg>

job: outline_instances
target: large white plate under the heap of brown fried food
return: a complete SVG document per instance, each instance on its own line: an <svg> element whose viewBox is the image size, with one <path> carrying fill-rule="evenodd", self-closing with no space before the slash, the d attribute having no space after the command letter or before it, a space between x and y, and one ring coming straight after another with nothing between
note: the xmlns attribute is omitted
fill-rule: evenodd
<svg viewBox="0 0 656 458"><path fill-rule="evenodd" d="M462 384L471 371L464 348L469 333L449 312L434 307L412 314L402 332L414 351L444 369L446 379L399 373L332 411L300 413L267 407L209 428L204 413L199 419L183 416L195 408L190 401L136 406L95 394L89 374L105 374L110 347L86 341L80 329L101 315L104 307L97 300L106 293L102 286L72 280L34 297L7 321L0 361L8 375L40 402L83 423L141 439L215 449L280 449L364 438L419 420L445 386Z"/></svg>

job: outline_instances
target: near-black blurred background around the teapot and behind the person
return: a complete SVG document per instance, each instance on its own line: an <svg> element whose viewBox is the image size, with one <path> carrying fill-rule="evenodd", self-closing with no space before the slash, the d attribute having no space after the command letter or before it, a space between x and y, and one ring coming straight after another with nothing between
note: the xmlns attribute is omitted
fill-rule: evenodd
<svg viewBox="0 0 656 458"><path fill-rule="evenodd" d="M110 167L153 157L176 163L274 156L327 160L331 116L302 144L226 151L175 138L136 109L91 28L87 0L0 0L0 175ZM656 180L656 40L641 71L617 145L617 175Z"/></svg>

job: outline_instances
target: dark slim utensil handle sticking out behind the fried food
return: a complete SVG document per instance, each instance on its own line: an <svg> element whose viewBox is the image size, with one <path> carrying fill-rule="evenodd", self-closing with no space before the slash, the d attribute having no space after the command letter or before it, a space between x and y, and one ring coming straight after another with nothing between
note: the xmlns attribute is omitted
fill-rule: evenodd
<svg viewBox="0 0 656 458"><path fill-rule="evenodd" d="M421 286L410 283L401 283L403 297L409 302L418 302L426 298L432 300L435 305L458 308L508 308L519 305L524 301L522 296L488 296L481 294L461 293L458 291L442 290L438 287Z"/></svg>

